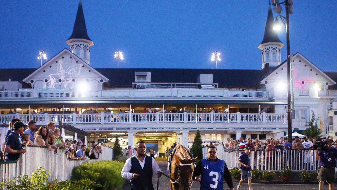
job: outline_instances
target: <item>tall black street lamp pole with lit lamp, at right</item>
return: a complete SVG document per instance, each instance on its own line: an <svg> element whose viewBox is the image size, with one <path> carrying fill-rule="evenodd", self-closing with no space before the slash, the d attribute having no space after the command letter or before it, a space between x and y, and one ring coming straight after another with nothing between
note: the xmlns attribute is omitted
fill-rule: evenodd
<svg viewBox="0 0 337 190"><path fill-rule="evenodd" d="M279 15L276 16L275 24L273 29L281 29L281 24L278 22L277 17L280 17L283 26L286 28L286 35L287 35L287 117L288 117L288 139L289 142L292 143L293 141L293 128L292 128L292 106L291 101L292 98L292 92L294 89L293 86L290 84L290 38L289 38L289 14L293 14L293 0L285 0L281 3L279 3L279 0L272 0L272 4L275 6L273 10L278 13ZM281 4L285 6L285 17L283 17L281 14L282 7Z"/></svg>

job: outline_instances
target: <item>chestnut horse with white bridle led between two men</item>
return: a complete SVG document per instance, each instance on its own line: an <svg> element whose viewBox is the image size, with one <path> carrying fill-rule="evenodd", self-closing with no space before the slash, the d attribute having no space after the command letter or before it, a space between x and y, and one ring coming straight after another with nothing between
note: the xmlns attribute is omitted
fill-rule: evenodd
<svg viewBox="0 0 337 190"><path fill-rule="evenodd" d="M196 158L192 159L189 149L181 144L177 145L171 157L169 175L174 180L170 180L171 190L190 190Z"/></svg>

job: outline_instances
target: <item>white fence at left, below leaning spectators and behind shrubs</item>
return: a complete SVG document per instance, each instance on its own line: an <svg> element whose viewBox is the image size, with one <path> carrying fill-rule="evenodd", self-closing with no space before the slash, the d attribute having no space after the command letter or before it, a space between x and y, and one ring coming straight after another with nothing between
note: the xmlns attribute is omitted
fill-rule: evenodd
<svg viewBox="0 0 337 190"><path fill-rule="evenodd" d="M104 146L101 148L102 154L98 160L112 160L113 149ZM83 161L68 160L65 153L61 153L61 149L58 155L55 155L53 150L49 152L47 148L28 146L27 152L22 154L17 162L0 162L0 181L9 181L24 173L31 175L39 167L51 172L49 181L55 178L59 181L70 180L74 166L82 163Z"/></svg>

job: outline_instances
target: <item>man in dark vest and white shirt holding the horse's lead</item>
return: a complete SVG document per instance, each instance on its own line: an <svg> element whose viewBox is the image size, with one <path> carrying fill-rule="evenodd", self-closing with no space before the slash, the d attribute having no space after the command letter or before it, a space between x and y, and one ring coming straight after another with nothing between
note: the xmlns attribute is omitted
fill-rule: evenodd
<svg viewBox="0 0 337 190"><path fill-rule="evenodd" d="M131 190L154 190L152 174L161 176L161 169L154 158L146 155L146 144L144 141L136 143L137 153L127 159L122 169L123 178L130 180Z"/></svg>

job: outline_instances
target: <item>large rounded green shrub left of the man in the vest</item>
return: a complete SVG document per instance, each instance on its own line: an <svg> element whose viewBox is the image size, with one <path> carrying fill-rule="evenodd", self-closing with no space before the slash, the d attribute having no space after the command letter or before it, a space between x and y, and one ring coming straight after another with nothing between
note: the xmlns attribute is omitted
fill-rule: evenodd
<svg viewBox="0 0 337 190"><path fill-rule="evenodd" d="M103 187L97 190L121 189L124 179L121 171L124 164L117 161L98 161L83 163L74 167L71 172L71 180L91 179L93 182Z"/></svg>

